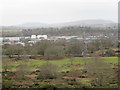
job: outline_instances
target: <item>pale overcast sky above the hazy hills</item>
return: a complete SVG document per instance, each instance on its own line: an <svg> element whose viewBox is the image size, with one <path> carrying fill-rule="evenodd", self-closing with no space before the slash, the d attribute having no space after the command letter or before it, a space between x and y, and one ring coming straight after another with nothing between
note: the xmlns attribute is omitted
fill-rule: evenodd
<svg viewBox="0 0 120 90"><path fill-rule="evenodd" d="M0 26L86 19L117 22L119 0L0 0Z"/></svg>

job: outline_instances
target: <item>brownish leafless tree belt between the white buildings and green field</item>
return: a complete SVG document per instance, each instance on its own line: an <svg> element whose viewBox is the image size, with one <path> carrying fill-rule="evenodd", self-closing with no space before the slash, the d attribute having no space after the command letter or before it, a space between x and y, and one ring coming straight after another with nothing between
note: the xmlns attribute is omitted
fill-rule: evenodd
<svg viewBox="0 0 120 90"><path fill-rule="evenodd" d="M81 56L84 52L84 42L74 40L67 42L66 40L61 41L47 41L42 40L37 42L33 46L26 43L25 46L21 45L4 45L3 54L12 55L42 55L42 56ZM106 54L112 55L114 51L111 48L117 47L116 43L113 43L110 39L94 40L87 43L87 52L89 54L95 53L96 51L105 51ZM109 51L109 52L108 52Z"/></svg>

